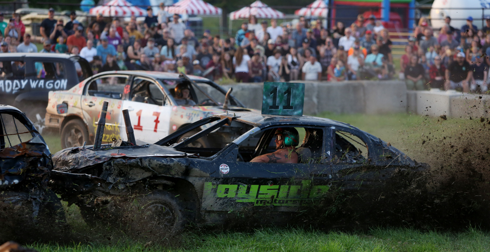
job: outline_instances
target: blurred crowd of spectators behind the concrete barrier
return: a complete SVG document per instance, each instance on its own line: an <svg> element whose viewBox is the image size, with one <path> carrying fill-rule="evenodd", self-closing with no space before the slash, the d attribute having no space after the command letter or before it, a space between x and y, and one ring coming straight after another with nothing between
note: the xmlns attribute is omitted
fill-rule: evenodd
<svg viewBox="0 0 490 252"><path fill-rule="evenodd" d="M194 34L163 5L156 15L148 7L142 24L135 17L127 24L117 18L106 21L98 15L82 24L72 12L64 24L54 19L51 8L40 26L41 52L79 54L94 73L139 69L239 82L400 78L415 90L488 90L490 61L482 55L490 55L490 17L481 30L471 17L461 29L452 27L446 17L436 32L421 18L401 56L398 76L389 31L373 15L368 20L359 15L348 27L337 22L333 29L304 17L294 25L280 26L275 19L259 23L251 16L229 38L213 36L209 30ZM0 13L0 31L4 35L0 53L37 52L18 14L5 23Z"/></svg>

